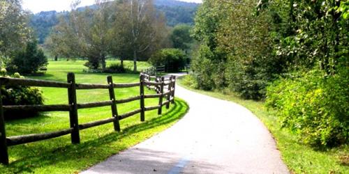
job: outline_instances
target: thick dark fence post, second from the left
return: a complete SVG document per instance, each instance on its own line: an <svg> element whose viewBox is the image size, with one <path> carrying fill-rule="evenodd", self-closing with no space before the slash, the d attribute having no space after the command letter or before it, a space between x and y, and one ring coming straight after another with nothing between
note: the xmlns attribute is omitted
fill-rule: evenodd
<svg viewBox="0 0 349 174"><path fill-rule="evenodd" d="M69 111L70 128L73 128L73 132L71 132L71 142L80 143L79 121L77 118L75 74L73 72L68 73L67 81L70 84L70 86L68 87L68 102L71 105L71 109Z"/></svg>

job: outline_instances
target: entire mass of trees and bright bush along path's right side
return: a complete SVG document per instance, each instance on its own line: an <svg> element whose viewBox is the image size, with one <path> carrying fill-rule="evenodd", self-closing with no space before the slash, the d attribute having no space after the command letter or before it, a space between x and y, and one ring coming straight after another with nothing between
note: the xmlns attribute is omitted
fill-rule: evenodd
<svg viewBox="0 0 349 174"><path fill-rule="evenodd" d="M340 71L348 69L348 29L346 1L206 0L192 30L200 42L193 77L198 88L228 87L245 99L263 100L276 77L319 70L320 76L313 72L275 82L268 100L281 102L285 126L304 134L307 143L346 143L348 108L342 106L348 105L343 97L348 96L348 73Z"/></svg>

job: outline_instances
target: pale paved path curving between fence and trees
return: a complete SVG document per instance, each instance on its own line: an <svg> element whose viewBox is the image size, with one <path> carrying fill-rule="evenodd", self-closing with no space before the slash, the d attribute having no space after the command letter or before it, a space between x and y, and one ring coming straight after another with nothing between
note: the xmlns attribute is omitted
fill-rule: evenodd
<svg viewBox="0 0 349 174"><path fill-rule="evenodd" d="M176 86L188 102L174 126L82 173L289 173L251 111Z"/></svg>

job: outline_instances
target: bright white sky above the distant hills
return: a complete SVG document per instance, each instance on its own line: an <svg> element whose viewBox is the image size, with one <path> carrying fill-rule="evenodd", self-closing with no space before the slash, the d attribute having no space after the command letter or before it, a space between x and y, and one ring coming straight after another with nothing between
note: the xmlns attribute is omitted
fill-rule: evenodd
<svg viewBox="0 0 349 174"><path fill-rule="evenodd" d="M31 10L33 13L39 13L40 11L63 11L70 10L70 3L72 0L22 0L23 8L25 10ZM89 6L94 4L95 0L81 0L80 6ZM187 2L201 3L202 0L179 0Z"/></svg>

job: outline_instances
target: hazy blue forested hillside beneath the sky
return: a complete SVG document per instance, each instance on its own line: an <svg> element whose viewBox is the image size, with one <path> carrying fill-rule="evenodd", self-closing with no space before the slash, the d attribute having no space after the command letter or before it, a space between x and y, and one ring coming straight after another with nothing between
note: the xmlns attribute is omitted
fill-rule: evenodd
<svg viewBox="0 0 349 174"><path fill-rule="evenodd" d="M156 10L165 14L168 26L176 26L177 24L193 25L194 15L198 10L198 3L187 3L175 0L156 0L154 6ZM93 6L89 6L93 8ZM84 8L78 8L84 10ZM29 25L34 29L34 33L38 36L38 43L43 44L45 38L50 34L52 26L59 22L59 15L67 15L68 12L44 11L31 16Z"/></svg>

